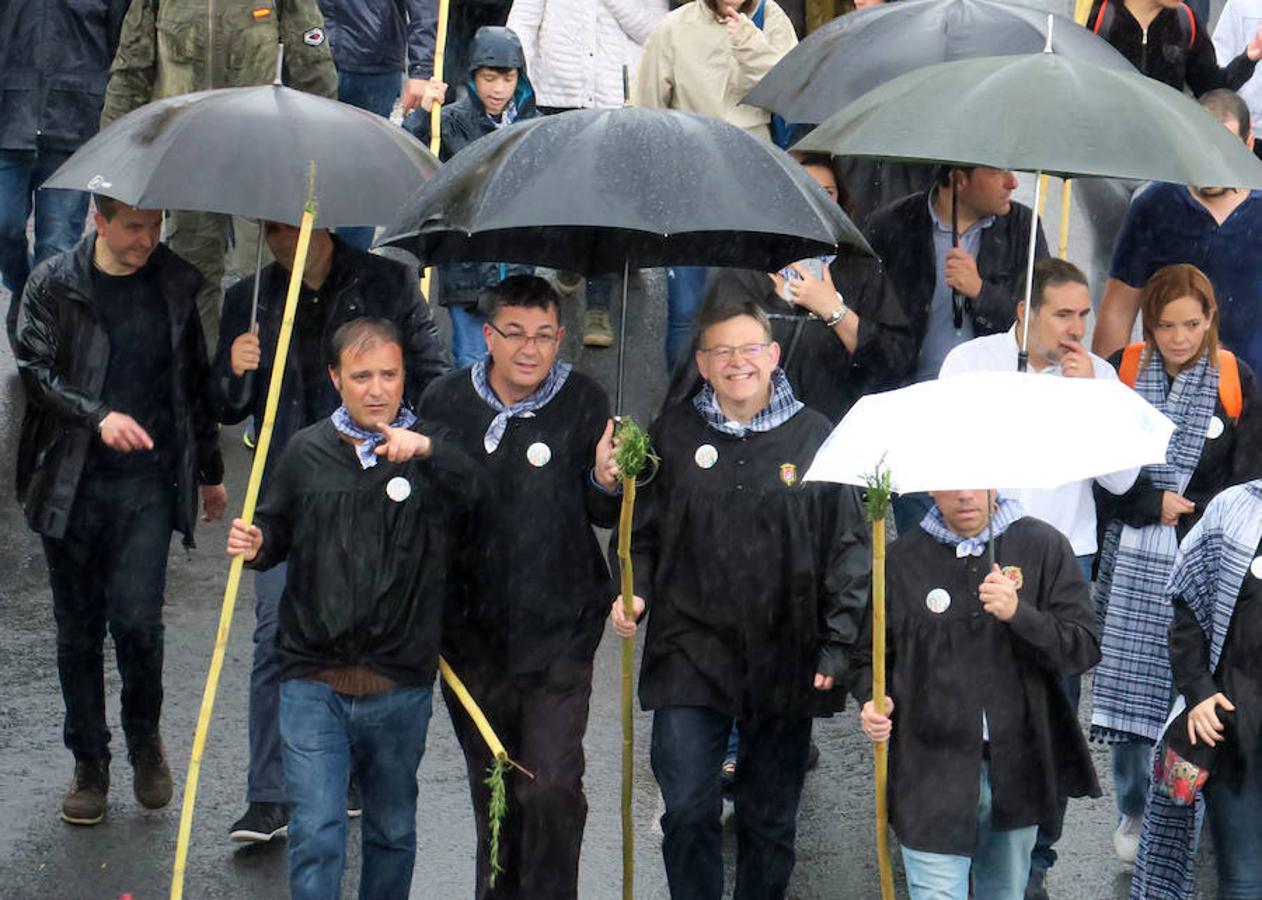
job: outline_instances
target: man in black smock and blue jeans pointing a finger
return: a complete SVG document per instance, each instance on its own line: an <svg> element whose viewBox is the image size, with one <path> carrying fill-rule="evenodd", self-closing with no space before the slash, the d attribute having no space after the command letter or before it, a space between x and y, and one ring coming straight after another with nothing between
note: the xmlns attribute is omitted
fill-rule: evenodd
<svg viewBox="0 0 1262 900"><path fill-rule="evenodd" d="M289 564L280 598L280 737L295 900L341 895L346 790L363 798L360 896L408 896L452 548L477 496L466 457L411 430L403 340L385 319L333 333L333 414L293 437L256 525L228 554Z"/></svg>

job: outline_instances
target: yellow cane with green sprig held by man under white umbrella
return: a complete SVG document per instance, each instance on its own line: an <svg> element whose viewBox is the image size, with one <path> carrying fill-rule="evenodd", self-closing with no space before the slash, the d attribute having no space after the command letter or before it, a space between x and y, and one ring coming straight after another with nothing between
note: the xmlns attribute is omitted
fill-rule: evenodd
<svg viewBox="0 0 1262 900"><path fill-rule="evenodd" d="M867 476L867 519L872 523L872 706L885 712L885 520L890 515L890 470L877 463ZM890 742L876 751L876 860L881 872L881 900L893 900L890 862Z"/></svg>

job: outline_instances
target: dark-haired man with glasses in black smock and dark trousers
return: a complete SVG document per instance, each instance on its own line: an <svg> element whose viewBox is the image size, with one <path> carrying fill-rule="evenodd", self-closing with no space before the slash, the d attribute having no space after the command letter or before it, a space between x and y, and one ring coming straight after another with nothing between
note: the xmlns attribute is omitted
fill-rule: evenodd
<svg viewBox="0 0 1262 900"><path fill-rule="evenodd" d="M477 896L564 900L578 892L592 658L615 592L592 530L611 528L621 502L613 422L599 385L557 358L565 329L548 281L501 281L482 333L487 355L430 385L419 413L482 461L490 482L456 579L463 597L444 620L443 654L535 775L509 779L505 871L493 894L485 784L492 760L443 690L468 764Z"/></svg>

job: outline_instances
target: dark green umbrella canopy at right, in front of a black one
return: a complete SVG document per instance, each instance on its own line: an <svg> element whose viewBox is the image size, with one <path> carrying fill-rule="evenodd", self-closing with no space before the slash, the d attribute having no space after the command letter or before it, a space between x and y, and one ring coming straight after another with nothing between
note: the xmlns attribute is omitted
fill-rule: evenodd
<svg viewBox="0 0 1262 900"><path fill-rule="evenodd" d="M1050 52L899 76L794 149L1063 178L1262 188L1262 162L1196 101L1133 69Z"/></svg>

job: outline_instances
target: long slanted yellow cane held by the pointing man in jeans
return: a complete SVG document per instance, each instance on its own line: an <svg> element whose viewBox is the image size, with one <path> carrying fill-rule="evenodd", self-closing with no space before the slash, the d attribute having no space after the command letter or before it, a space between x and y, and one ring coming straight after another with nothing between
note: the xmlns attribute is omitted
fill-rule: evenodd
<svg viewBox="0 0 1262 900"><path fill-rule="evenodd" d="M316 225L316 163L310 163L307 175L307 203L303 206L302 225L298 231L298 246L294 250L294 270L289 275L289 292L285 294L285 311L280 322L280 336L276 338L276 352L271 365L271 381L268 384L268 401L264 406L262 425L259 429L259 443L250 466L250 481L245 488L245 502L241 518L254 521L254 507L259 501L259 488L262 485L262 470L271 447L271 430L276 420L276 405L280 400L280 382L285 375L285 360L289 356L289 338L294 331L294 313L298 311L298 293L303 284L303 269L307 265L307 249L310 245L312 227ZM193 755L188 761L188 778L184 781L184 803L179 812L179 837L175 841L175 866L170 879L170 897L179 900L184 894L184 870L188 863L188 842L193 829L193 808L197 803L197 781L202 773L202 757L206 755L206 738L211 731L211 714L215 712L215 694L220 687L220 673L223 670L223 655L227 650L228 632L232 629L232 613L236 608L237 591L241 587L241 572L245 557L233 557L228 567L228 583L223 588L223 606L220 610L220 629L215 636L215 651L211 654L211 669L206 675L206 688L202 690L202 708L197 716L197 730L193 732Z"/></svg>

